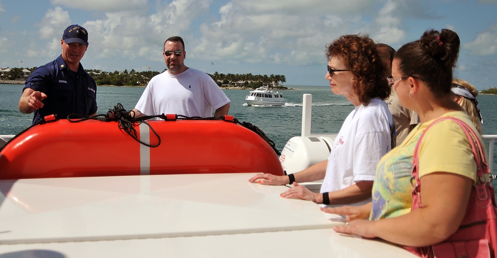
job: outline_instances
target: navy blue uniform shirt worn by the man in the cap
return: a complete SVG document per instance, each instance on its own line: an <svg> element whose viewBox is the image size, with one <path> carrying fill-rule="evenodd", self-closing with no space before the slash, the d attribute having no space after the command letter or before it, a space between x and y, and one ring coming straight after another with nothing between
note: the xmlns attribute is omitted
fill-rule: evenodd
<svg viewBox="0 0 497 258"><path fill-rule="evenodd" d="M81 63L78 72L70 71L62 55L33 71L25 88L47 94L43 108L34 111L33 124L51 114L66 119L69 114L90 115L97 110L95 80Z"/></svg>

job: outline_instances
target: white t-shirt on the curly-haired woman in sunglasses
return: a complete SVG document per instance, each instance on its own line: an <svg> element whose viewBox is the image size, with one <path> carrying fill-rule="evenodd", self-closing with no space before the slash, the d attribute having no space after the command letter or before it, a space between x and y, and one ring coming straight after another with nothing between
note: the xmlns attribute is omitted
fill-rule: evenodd
<svg viewBox="0 0 497 258"><path fill-rule="evenodd" d="M373 98L367 106L356 106L333 143L321 192L373 181L378 162L391 150L390 125L392 115L385 101Z"/></svg>

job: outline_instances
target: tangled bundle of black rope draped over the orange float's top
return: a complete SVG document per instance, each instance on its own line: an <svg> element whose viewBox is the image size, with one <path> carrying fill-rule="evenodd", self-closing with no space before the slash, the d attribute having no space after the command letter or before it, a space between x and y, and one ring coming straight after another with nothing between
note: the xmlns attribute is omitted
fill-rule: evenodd
<svg viewBox="0 0 497 258"><path fill-rule="evenodd" d="M117 121L117 126L119 127L119 129L126 132L129 136L131 136L131 138L135 139L135 141L150 148L159 147L159 145L161 145L161 137L159 136L159 134L154 130L154 128L152 128L149 123L147 123L147 121L145 121L146 119L143 119L143 117L140 117L138 119L133 118L134 114L132 115L132 112L133 111L126 111L121 103L117 103L117 105L114 106L114 109L109 109L106 114L99 114L94 116L70 114L67 116L67 120L72 123L83 122L86 120L98 120L103 122ZM150 130L158 139L158 143L156 145L151 145L138 139L138 134L133 126L136 122L142 122L150 128Z"/></svg>

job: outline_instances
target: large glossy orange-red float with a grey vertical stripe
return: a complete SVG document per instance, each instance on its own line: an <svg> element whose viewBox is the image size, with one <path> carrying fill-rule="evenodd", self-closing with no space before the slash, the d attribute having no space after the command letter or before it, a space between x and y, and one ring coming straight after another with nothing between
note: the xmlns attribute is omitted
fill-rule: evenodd
<svg viewBox="0 0 497 258"><path fill-rule="evenodd" d="M259 135L222 120L136 123L138 140L117 122L59 120L37 125L0 152L0 179L185 173L283 175ZM152 129L153 131L152 131Z"/></svg>

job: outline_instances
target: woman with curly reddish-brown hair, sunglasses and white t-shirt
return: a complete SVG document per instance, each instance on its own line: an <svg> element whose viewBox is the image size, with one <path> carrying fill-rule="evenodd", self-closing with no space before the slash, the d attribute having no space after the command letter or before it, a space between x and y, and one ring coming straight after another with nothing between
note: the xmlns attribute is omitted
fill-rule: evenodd
<svg viewBox="0 0 497 258"><path fill-rule="evenodd" d="M392 115L384 101L391 88L375 42L366 35L344 35L328 45L328 72L334 94L345 96L354 109L345 118L327 160L294 174L256 174L250 182L293 184L285 198L319 204L363 204L371 200L376 165L392 147ZM322 180L320 193L298 183Z"/></svg>

